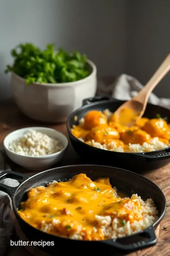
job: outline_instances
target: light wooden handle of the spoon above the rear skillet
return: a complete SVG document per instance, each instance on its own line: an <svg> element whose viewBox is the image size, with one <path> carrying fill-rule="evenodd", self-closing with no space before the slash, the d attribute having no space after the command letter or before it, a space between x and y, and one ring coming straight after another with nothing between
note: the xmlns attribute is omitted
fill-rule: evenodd
<svg viewBox="0 0 170 256"><path fill-rule="evenodd" d="M147 104L150 93L161 81L161 79L170 71L170 54L162 62L157 71L153 74L152 78L146 83L144 88L133 98L135 101L139 101L144 105Z"/></svg>

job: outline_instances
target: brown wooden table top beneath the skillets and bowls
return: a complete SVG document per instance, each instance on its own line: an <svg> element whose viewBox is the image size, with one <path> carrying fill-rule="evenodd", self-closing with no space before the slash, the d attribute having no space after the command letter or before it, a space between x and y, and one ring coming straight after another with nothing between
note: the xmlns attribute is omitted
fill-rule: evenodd
<svg viewBox="0 0 170 256"><path fill-rule="evenodd" d="M3 142L4 137L13 130L18 128L32 127L32 126L44 126L55 128L67 135L66 124L44 124L31 120L24 116L15 106L14 103L1 103L0 104L0 144ZM13 171L20 173L32 173L18 165L15 165L9 161L9 164ZM85 164L82 163L79 157L74 152L72 146L69 144L68 152L65 158L57 165L72 165L72 164ZM57 167L56 166L56 167ZM166 196L167 203L170 203L170 164L157 170L153 170L144 174L145 177L156 183ZM166 227L166 230L163 230ZM15 235L14 235L15 236ZM15 254L12 251L16 250ZM19 253L19 251L18 251ZM11 247L8 256L18 255L17 248ZM170 207L167 207L164 219L161 221L160 235L158 243L151 252L146 256L170 256Z"/></svg>

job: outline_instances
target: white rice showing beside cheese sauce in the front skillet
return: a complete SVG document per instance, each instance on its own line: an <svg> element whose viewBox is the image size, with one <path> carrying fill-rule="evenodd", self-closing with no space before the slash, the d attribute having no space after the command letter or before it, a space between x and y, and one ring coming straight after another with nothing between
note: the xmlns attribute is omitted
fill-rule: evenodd
<svg viewBox="0 0 170 256"><path fill-rule="evenodd" d="M116 196L116 194L115 194ZM119 197L117 195L117 197ZM99 216L96 215L95 219L98 222L98 229L102 232L105 239L114 239L114 238L122 238L128 235L132 235L136 232L144 230L150 227L157 219L158 219L158 211L154 205L152 199L147 199L143 201L140 196L137 194L133 194L131 196L132 200L136 200L140 203L139 210L136 210L136 215L141 216L141 220L134 221L130 223L130 221L125 222L124 226L120 225L119 218L111 218L110 216ZM60 224L59 219L53 218L51 223L45 223L42 221L41 230L43 232L49 232L50 230L56 229L56 227ZM93 231L97 232L98 230L93 227ZM76 233L70 235L69 238L76 240L83 240L85 234L80 230L76 231Z"/></svg>

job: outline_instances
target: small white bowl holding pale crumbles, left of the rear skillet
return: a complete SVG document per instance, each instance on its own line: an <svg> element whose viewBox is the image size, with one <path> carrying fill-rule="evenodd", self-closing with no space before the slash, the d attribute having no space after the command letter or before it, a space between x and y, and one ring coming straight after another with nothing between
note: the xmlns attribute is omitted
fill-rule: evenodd
<svg viewBox="0 0 170 256"><path fill-rule="evenodd" d="M18 155L17 153L14 153L10 149L8 149L9 143L11 141L16 140L19 137L22 137L30 129L34 129L37 132L42 132L51 138L58 139L63 145L63 149L57 153L43 156ZM48 169L51 165L54 165L61 160L68 147L68 138L55 129L45 127L28 127L18 129L16 131L9 133L4 138L3 146L8 157L16 164L21 165L29 170L45 170Z"/></svg>

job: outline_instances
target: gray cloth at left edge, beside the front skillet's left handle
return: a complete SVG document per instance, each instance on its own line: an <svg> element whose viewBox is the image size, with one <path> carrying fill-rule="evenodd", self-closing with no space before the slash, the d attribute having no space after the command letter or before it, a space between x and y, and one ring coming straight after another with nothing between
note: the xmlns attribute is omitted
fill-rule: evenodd
<svg viewBox="0 0 170 256"><path fill-rule="evenodd" d="M5 170L10 170L10 167L5 161L3 149L0 148L0 173ZM0 183L6 184L11 187L16 187L19 182L13 179L4 179ZM0 256L6 252L8 243L13 232L14 218L11 215L12 205L11 199L7 193L0 191Z"/></svg>

